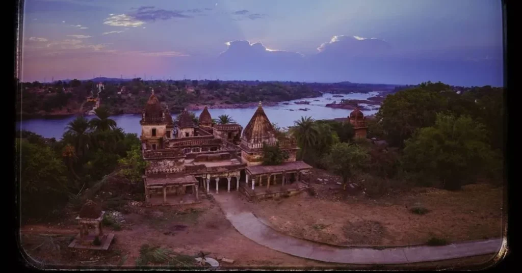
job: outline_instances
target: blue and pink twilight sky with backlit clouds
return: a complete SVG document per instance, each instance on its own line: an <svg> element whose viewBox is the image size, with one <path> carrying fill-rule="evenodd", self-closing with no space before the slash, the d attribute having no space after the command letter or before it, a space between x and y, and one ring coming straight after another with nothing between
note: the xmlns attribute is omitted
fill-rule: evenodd
<svg viewBox="0 0 522 273"><path fill-rule="evenodd" d="M22 81L503 85L500 0L26 0Z"/></svg>

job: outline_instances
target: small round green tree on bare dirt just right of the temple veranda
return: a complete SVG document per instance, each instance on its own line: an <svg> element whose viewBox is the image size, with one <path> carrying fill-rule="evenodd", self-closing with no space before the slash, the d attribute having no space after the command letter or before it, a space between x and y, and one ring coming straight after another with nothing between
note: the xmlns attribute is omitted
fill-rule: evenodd
<svg viewBox="0 0 522 273"><path fill-rule="evenodd" d="M338 143L331 147L323 161L331 172L342 177L342 188L346 189L350 176L363 169L369 159L366 149L354 144Z"/></svg>

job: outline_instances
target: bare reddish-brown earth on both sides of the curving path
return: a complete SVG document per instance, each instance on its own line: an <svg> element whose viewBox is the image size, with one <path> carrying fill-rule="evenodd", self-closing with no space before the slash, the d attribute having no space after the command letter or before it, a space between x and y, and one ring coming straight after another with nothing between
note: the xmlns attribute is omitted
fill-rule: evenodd
<svg viewBox="0 0 522 273"><path fill-rule="evenodd" d="M335 182L330 181L334 185ZM342 201L328 194L328 184L317 184L319 198L292 196L258 204L238 201L238 209L251 210L266 217L278 228L292 235L329 243L405 245L424 243L430 232L451 241L501 236L500 189L470 186L460 193L429 190L374 201L362 197ZM326 188L321 192L321 188ZM133 267L141 245L160 246L184 255L233 259L222 267L292 267L292 268L368 268L361 265L337 265L316 262L270 250L245 238L226 220L219 206L202 194L203 202L182 207L126 206L122 230L105 227L115 234L109 251L77 250L67 247L78 233L70 215L61 222L25 225L21 229L21 247L29 254L28 263L65 266ZM327 200L328 199L328 200ZM414 215L405 205L421 201L432 211ZM343 220L341 220L343 219ZM324 227L322 225L324 225ZM50 234L58 234L49 236ZM493 255L483 255L441 262L375 268L450 268L471 265L483 267Z"/></svg>

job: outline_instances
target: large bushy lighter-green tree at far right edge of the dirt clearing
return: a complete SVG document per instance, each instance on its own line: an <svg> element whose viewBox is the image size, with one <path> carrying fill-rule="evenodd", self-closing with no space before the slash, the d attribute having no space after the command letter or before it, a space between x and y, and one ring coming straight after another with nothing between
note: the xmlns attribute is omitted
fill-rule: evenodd
<svg viewBox="0 0 522 273"><path fill-rule="evenodd" d="M445 189L460 189L494 158L487 130L468 116L437 114L434 126L422 128L406 141L405 170L433 177Z"/></svg>

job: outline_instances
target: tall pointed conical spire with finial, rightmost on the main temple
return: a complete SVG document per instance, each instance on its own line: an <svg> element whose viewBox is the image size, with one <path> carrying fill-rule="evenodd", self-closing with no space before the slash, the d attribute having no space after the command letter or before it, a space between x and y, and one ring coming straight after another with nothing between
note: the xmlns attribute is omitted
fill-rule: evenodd
<svg viewBox="0 0 522 273"><path fill-rule="evenodd" d="M274 138L275 134L276 129L268 120L263 106L259 102L256 112L243 130L243 138L248 142L260 143L264 139Z"/></svg>

